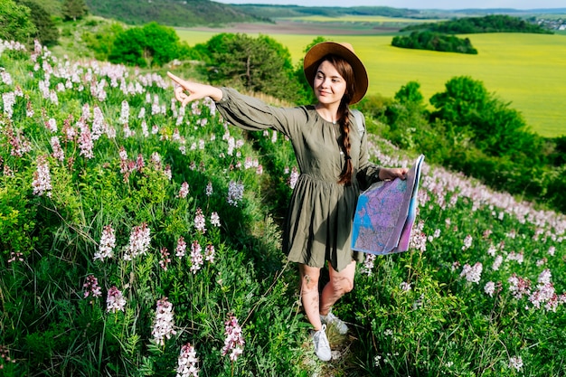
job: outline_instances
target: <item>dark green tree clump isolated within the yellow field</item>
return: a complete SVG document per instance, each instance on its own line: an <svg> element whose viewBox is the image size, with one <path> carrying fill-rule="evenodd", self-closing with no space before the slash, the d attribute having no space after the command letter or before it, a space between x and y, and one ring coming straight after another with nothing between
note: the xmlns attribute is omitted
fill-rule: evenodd
<svg viewBox="0 0 566 377"><path fill-rule="evenodd" d="M477 54L468 38L442 33L412 32L410 35L397 35L393 37L391 45L404 49Z"/></svg>

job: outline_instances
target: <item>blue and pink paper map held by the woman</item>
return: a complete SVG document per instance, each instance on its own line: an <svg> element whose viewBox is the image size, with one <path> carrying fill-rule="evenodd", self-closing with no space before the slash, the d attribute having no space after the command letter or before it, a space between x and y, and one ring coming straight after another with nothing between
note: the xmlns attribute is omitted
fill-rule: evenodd
<svg viewBox="0 0 566 377"><path fill-rule="evenodd" d="M391 254L409 249L423 160L420 155L405 180L378 182L360 195L354 214L353 250Z"/></svg>

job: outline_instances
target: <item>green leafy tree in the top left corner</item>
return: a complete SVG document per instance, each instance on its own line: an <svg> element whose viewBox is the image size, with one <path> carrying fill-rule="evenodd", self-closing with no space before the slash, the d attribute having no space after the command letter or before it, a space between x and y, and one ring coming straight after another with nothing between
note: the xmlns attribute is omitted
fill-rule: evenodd
<svg viewBox="0 0 566 377"><path fill-rule="evenodd" d="M0 0L0 39L31 44L37 28L30 17L30 8L12 0Z"/></svg>

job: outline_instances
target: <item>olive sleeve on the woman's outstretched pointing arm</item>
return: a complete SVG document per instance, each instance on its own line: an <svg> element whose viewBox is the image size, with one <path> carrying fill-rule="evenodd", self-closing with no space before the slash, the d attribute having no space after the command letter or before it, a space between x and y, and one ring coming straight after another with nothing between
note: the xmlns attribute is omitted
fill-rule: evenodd
<svg viewBox="0 0 566 377"><path fill-rule="evenodd" d="M236 127L249 131L273 128L290 137L297 127L298 112L292 108L269 106L265 102L245 96L231 88L221 88L222 99L216 102L216 108L222 117Z"/></svg>

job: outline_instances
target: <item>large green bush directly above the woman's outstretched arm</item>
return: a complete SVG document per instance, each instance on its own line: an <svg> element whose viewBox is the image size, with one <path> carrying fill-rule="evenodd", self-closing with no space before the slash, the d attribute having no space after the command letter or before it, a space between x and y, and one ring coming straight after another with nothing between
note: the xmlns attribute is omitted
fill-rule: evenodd
<svg viewBox="0 0 566 377"><path fill-rule="evenodd" d="M299 89L286 47L269 36L242 33L214 35L206 47L214 84L295 100Z"/></svg>

